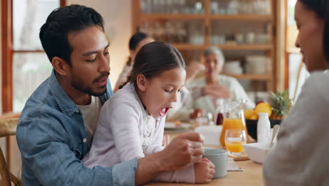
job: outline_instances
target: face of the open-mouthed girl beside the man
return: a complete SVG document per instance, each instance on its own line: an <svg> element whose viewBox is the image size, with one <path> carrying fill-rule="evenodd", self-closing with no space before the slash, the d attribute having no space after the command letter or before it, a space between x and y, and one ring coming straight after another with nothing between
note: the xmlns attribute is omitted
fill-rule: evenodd
<svg viewBox="0 0 329 186"><path fill-rule="evenodd" d="M185 78L186 70L178 67L145 79L144 85L138 85L141 101L153 118L165 116L172 103L177 102Z"/></svg>

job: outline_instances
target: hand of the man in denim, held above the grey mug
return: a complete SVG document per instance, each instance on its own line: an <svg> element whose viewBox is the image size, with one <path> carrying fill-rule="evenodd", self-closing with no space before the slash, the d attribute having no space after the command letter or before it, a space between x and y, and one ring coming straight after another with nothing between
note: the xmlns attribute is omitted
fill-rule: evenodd
<svg viewBox="0 0 329 186"><path fill-rule="evenodd" d="M162 165L166 171L175 171L202 159L202 143L205 138L196 132L175 137L162 151Z"/></svg>

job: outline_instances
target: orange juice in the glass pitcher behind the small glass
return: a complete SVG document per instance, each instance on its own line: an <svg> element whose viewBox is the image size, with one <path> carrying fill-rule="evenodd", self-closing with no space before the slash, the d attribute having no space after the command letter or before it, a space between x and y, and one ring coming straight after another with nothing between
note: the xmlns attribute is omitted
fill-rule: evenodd
<svg viewBox="0 0 329 186"><path fill-rule="evenodd" d="M244 120L241 118L224 118L223 120L223 128L221 129L221 137L219 142L222 147L225 147L225 132L228 129L238 129L245 130L246 135L248 136L247 128L245 126ZM247 137L248 142L248 137Z"/></svg>

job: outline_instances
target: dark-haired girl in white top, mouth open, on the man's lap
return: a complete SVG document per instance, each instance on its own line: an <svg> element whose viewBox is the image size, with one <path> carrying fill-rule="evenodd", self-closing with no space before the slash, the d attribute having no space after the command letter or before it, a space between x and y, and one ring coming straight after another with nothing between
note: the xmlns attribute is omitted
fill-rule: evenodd
<svg viewBox="0 0 329 186"><path fill-rule="evenodd" d="M165 116L177 101L185 77L185 63L173 46L162 42L143 46L129 82L101 109L85 166L112 166L162 151ZM202 159L155 180L203 183L210 182L213 174L214 165Z"/></svg>

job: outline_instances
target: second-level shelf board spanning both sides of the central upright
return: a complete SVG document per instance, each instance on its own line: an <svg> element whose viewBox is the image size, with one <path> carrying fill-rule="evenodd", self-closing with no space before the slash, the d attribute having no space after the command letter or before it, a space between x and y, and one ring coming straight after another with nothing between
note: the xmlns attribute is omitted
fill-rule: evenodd
<svg viewBox="0 0 329 186"><path fill-rule="evenodd" d="M208 46L202 44L172 44L178 50L205 50ZM271 44L224 44L217 45L222 50L271 50L273 49Z"/></svg>

